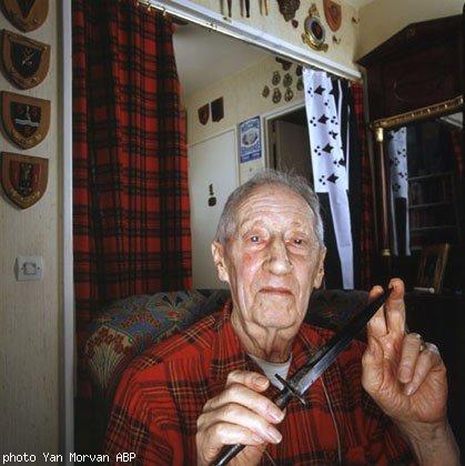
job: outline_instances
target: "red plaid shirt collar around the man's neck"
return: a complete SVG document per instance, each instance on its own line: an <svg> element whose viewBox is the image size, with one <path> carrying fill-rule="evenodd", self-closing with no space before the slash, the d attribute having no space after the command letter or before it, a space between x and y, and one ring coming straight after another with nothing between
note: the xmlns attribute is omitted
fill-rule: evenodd
<svg viewBox="0 0 465 466"><path fill-rule="evenodd" d="M223 388L228 374L232 371L254 371L262 373L262 369L255 362L249 357L241 341L234 332L231 324L232 302L224 305L223 312L214 325L214 332L218 337L214 338L212 363L210 367L210 382L213 386ZM303 323L302 325L306 325ZM305 362L309 356L323 344L322 337L316 332L299 332L292 345L292 363L290 376L292 376ZM309 336L310 335L310 336ZM274 386L269 388L271 394L277 393Z"/></svg>

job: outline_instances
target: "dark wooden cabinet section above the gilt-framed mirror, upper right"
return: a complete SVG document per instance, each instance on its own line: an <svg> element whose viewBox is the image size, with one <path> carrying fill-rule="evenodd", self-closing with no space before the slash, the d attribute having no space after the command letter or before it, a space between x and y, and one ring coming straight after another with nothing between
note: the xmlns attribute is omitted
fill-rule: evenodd
<svg viewBox="0 0 465 466"><path fill-rule="evenodd" d="M444 102L462 93L462 17L410 24L361 58L370 120Z"/></svg>

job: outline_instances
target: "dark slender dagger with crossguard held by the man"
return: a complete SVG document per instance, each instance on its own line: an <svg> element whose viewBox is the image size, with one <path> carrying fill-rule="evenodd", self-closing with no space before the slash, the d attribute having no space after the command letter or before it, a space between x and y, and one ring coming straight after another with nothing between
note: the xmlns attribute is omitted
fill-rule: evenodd
<svg viewBox="0 0 465 466"><path fill-rule="evenodd" d="M367 322L373 317L376 311L386 302L391 294L390 288L376 300L367 304L358 314L332 338L327 341L311 358L305 363L289 381L284 381L280 375L275 377L283 384L284 388L273 399L274 404L284 409L291 399L295 396L302 404L306 405L303 395L313 385L313 383L333 364L336 357L350 345L355 336L364 328ZM236 456L245 445L228 445L220 452L214 466L223 466Z"/></svg>

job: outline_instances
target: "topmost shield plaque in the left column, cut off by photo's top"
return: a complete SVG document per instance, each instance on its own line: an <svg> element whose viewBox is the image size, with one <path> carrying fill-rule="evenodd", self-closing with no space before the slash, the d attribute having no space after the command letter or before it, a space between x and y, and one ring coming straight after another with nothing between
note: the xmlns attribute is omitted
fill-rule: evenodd
<svg viewBox="0 0 465 466"><path fill-rule="evenodd" d="M49 13L49 0L3 0L3 12L23 32L41 27Z"/></svg>

